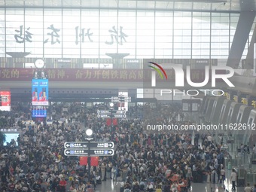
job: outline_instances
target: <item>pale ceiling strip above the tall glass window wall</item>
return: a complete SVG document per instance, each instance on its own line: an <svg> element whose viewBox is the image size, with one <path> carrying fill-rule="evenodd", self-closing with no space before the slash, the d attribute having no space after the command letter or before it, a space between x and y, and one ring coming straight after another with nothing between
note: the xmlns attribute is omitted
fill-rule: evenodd
<svg viewBox="0 0 256 192"><path fill-rule="evenodd" d="M255 11L256 0L0 0L0 8L92 8L162 11Z"/></svg>

